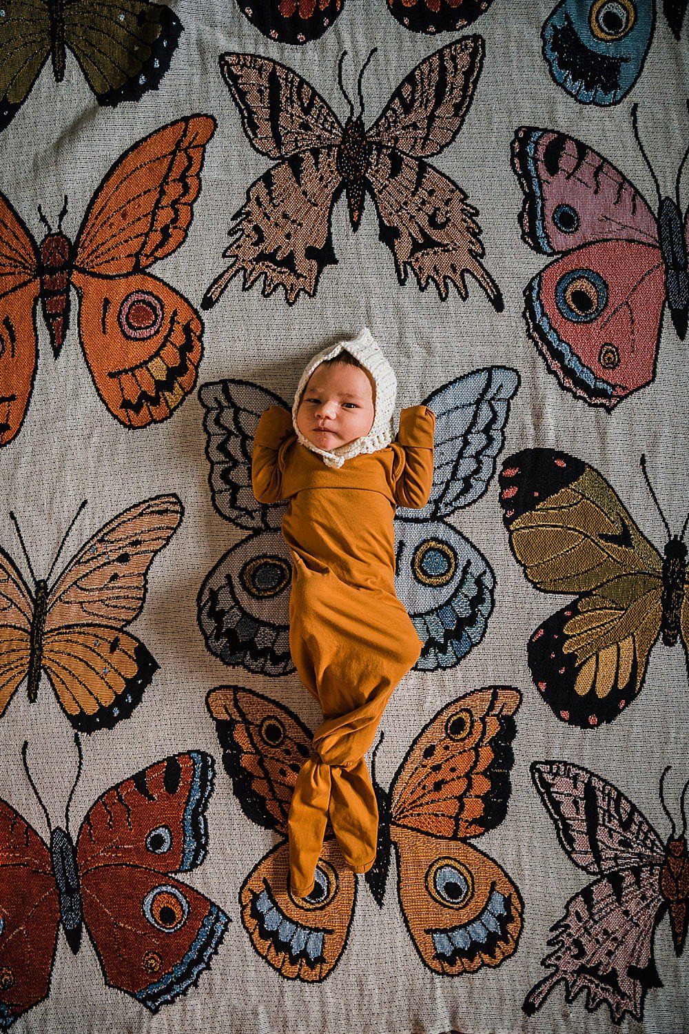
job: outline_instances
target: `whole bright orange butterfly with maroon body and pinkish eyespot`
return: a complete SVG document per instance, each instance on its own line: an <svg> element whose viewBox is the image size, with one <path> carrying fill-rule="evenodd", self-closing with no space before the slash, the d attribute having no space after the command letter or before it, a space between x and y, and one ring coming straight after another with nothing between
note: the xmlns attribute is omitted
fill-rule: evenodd
<svg viewBox="0 0 689 1034"><path fill-rule="evenodd" d="M57 358L80 295L79 335L91 376L126 427L166 420L196 383L203 325L182 295L143 273L183 243L200 190L207 115L180 119L134 144L96 190L72 244L37 246L0 193L0 446L20 430L38 356L36 303Z"/></svg>

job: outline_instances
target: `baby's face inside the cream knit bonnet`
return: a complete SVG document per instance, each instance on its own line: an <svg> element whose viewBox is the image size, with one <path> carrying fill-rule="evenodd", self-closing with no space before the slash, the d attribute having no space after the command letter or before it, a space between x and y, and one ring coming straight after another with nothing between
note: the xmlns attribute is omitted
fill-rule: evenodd
<svg viewBox="0 0 689 1034"><path fill-rule="evenodd" d="M374 416L373 388L365 370L321 363L304 389L296 426L307 442L333 452L368 434Z"/></svg>

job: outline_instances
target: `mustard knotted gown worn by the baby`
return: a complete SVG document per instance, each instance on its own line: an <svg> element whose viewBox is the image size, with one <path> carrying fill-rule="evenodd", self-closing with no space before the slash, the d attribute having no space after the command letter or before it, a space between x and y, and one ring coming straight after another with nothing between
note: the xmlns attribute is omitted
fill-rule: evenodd
<svg viewBox="0 0 689 1034"><path fill-rule="evenodd" d="M393 521L396 506L418 509L429 499L434 429L427 406L403 409L392 445L341 467L302 446L279 406L256 430L254 495L289 499L282 520L292 557L289 648L324 719L289 810L290 884L301 898L313 889L328 816L355 873L375 861L378 807L364 755L421 649L395 592Z"/></svg>

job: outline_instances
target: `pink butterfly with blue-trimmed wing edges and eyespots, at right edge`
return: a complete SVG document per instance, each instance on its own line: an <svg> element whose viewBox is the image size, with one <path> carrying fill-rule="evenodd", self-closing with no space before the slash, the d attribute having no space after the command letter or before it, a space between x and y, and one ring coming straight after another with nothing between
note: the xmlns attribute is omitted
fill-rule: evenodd
<svg viewBox="0 0 689 1034"><path fill-rule="evenodd" d="M641 148L636 105L632 122ZM615 165L573 136L521 126L512 165L525 193L525 242L559 255L524 292L529 334L564 388L613 409L654 379L665 302L682 340L687 332L684 160L675 200L660 197L654 176L657 216Z"/></svg>

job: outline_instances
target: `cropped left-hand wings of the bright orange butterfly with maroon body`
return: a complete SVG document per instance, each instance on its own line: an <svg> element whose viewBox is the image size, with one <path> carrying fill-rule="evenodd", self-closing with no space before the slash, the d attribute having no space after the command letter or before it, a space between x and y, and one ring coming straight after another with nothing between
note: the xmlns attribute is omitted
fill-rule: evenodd
<svg viewBox="0 0 689 1034"><path fill-rule="evenodd" d="M0 62L0 75L2 68ZM36 373L35 309L39 288L36 245L0 193L0 447L19 432L31 398Z"/></svg>

